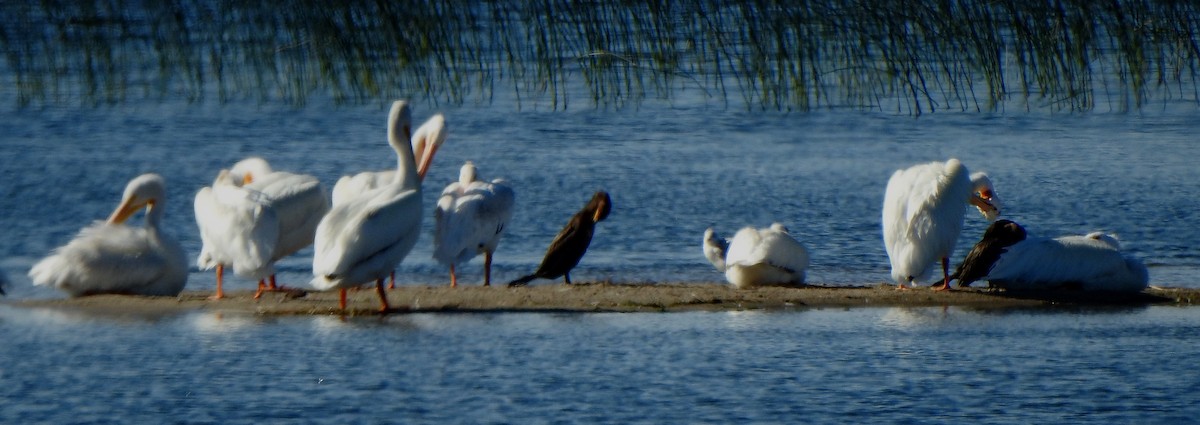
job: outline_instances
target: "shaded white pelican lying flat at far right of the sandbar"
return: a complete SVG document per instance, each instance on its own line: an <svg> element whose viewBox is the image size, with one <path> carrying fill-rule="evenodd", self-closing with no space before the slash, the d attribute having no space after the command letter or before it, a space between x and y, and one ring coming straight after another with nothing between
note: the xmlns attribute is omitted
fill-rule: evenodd
<svg viewBox="0 0 1200 425"><path fill-rule="evenodd" d="M985 279L989 286L1007 289L1139 292L1150 285L1146 265L1100 232L1026 238L1001 253Z"/></svg>

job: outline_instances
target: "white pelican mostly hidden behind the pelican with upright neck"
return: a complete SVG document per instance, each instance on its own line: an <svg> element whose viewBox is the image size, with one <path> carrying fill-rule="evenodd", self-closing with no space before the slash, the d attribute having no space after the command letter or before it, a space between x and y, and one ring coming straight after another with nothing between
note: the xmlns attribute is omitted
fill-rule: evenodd
<svg viewBox="0 0 1200 425"><path fill-rule="evenodd" d="M418 160L416 175L421 181L425 181L425 174L430 172L430 164L433 163L433 156L446 140L446 120L444 115L436 114L418 127L415 133L409 131L409 121L410 118L406 114L406 116L401 120L401 126L403 127L404 138L410 139L412 142L413 157ZM337 179L337 184L334 185L334 204L353 198L358 193L390 184L395 179L395 169L343 175L341 179Z"/></svg>

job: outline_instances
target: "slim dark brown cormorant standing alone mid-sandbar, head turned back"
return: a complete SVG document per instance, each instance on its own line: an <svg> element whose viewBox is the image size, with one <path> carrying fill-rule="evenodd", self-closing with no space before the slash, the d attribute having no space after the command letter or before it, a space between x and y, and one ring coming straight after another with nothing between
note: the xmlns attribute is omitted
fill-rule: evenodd
<svg viewBox="0 0 1200 425"><path fill-rule="evenodd" d="M534 279L558 279L558 276L563 276L566 285L571 285L571 269L580 264L580 259L588 252L596 223L608 217L611 210L612 199L608 198L607 192L599 191L593 194L592 200L588 200L582 210L575 212L566 227L554 237L554 241L550 243L550 249L546 250L546 257L542 257L538 271L509 282L509 286L524 286Z"/></svg>

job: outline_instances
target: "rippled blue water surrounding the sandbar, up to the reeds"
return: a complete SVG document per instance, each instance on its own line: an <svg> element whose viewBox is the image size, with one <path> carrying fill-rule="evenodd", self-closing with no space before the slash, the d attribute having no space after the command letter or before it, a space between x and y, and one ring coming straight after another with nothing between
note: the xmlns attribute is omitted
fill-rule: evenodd
<svg viewBox="0 0 1200 425"><path fill-rule="evenodd" d="M262 318L89 316L5 303L60 294L25 271L106 217L125 182L163 174L164 227L199 251L192 196L248 155L317 175L394 164L389 100L47 107L0 114L0 423L1171 423L1200 414L1200 310L860 309L671 315L410 315ZM988 170L1003 215L1044 235L1108 231L1151 283L1200 286L1194 113L749 113L438 108L450 138L426 205L474 161L517 208L499 281L532 270L568 217L605 188L576 280L719 282L700 240L785 223L809 280L888 280L880 204L899 167L961 158ZM427 217L428 219L428 217ZM432 221L400 268L444 285ZM966 220L958 258L983 232ZM280 263L304 286L311 250ZM480 261L460 268L481 280ZM227 288L250 288L240 279ZM193 270L188 288L211 291Z"/></svg>

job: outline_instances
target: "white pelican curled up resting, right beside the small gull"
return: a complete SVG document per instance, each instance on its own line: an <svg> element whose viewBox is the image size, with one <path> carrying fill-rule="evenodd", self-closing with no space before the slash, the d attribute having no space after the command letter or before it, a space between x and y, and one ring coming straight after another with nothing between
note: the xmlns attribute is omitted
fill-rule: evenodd
<svg viewBox="0 0 1200 425"><path fill-rule="evenodd" d="M744 227L730 241L725 264L725 280L738 288L802 285L809 251L784 225L772 223L763 229Z"/></svg>

